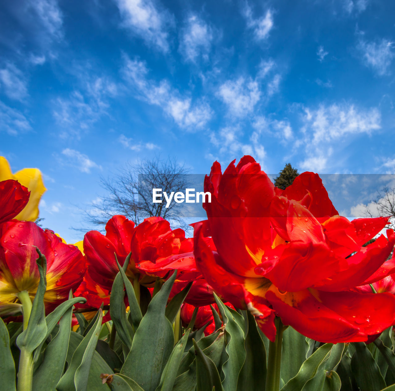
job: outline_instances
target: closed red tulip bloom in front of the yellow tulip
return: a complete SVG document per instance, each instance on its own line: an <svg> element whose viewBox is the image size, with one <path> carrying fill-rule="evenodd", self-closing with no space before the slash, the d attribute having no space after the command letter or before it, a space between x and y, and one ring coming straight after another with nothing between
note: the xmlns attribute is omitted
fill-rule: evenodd
<svg viewBox="0 0 395 391"><path fill-rule="evenodd" d="M27 205L29 190L17 180L0 182L0 224L14 218Z"/></svg>

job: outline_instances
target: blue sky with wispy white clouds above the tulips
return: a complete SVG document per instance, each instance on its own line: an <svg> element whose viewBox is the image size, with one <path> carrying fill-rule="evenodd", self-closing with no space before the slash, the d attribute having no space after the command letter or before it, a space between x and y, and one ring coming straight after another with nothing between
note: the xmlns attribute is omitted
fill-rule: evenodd
<svg viewBox="0 0 395 391"><path fill-rule="evenodd" d="M394 173L394 15L387 0L2 2L0 154L42 171L40 216L70 242L100 175L158 154L199 174L243 154L267 173Z"/></svg>

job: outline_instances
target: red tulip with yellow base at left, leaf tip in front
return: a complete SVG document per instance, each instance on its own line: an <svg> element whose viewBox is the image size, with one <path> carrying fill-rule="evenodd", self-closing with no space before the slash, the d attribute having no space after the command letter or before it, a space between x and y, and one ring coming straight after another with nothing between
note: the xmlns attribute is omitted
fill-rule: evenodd
<svg viewBox="0 0 395 391"><path fill-rule="evenodd" d="M0 239L0 312L15 313L18 294L26 290L34 298L40 274L36 247L47 258L47 290L44 300L51 311L77 289L85 273L85 260L73 245L62 243L52 231L34 222L10 221Z"/></svg>

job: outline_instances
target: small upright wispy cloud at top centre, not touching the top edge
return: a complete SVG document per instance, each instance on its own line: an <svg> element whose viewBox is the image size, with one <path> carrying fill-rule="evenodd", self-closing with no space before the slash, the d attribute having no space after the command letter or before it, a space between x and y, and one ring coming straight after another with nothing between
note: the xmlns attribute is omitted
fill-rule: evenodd
<svg viewBox="0 0 395 391"><path fill-rule="evenodd" d="M182 30L182 38L179 51L187 61L195 62L201 56L207 61L213 40L213 29L200 19L192 15Z"/></svg>

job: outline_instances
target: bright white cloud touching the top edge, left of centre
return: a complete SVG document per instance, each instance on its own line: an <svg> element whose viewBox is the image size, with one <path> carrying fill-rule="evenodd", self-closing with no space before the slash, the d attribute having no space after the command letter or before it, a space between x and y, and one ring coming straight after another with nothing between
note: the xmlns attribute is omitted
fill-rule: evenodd
<svg viewBox="0 0 395 391"><path fill-rule="evenodd" d="M172 17L159 11L151 0L115 0L122 16L122 25L139 35L147 44L164 53L169 51L168 27Z"/></svg>

